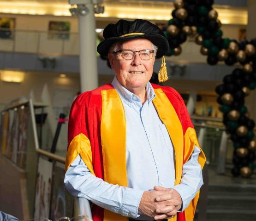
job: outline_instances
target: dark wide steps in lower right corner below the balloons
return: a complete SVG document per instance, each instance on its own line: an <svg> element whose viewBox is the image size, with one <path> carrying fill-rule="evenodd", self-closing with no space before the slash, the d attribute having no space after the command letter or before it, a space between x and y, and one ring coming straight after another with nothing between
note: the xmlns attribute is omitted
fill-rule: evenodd
<svg viewBox="0 0 256 221"><path fill-rule="evenodd" d="M207 221L256 221L256 185L209 184Z"/></svg>

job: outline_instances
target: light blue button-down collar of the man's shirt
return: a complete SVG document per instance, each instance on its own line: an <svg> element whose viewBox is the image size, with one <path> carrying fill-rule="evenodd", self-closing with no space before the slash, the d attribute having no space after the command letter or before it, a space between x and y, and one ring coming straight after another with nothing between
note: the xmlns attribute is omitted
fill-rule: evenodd
<svg viewBox="0 0 256 221"><path fill-rule="evenodd" d="M130 106L133 101L140 101L139 97L133 94L131 91L128 91L121 83L118 81L115 76L112 83L115 90L117 90L120 98ZM155 91L152 85L148 82L146 85L147 92L147 102L151 102L155 98Z"/></svg>

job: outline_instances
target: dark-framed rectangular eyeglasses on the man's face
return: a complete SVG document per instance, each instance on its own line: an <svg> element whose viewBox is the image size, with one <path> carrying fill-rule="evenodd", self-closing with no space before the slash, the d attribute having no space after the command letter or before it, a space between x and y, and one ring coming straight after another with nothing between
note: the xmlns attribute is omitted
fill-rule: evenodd
<svg viewBox="0 0 256 221"><path fill-rule="evenodd" d="M153 57L154 50L141 50L141 51L133 51L133 50L119 50L114 51L113 54L118 56L119 60L131 60L135 57L135 53L138 52L141 60L150 60Z"/></svg>

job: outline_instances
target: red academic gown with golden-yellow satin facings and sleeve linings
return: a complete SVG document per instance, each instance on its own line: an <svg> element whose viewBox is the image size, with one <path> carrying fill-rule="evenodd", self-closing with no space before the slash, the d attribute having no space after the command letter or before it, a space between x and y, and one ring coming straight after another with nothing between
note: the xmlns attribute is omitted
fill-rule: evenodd
<svg viewBox="0 0 256 221"><path fill-rule="evenodd" d="M175 185L180 183L182 168L195 145L199 147L195 129L177 91L152 84L153 104L166 125L175 152ZM68 150L65 169L80 154L88 169L108 183L127 187L126 120L122 101L111 84L79 95L72 104L68 125ZM203 167L201 150L198 162ZM193 221L199 192L188 208L169 221ZM93 221L128 221L128 217L93 205Z"/></svg>

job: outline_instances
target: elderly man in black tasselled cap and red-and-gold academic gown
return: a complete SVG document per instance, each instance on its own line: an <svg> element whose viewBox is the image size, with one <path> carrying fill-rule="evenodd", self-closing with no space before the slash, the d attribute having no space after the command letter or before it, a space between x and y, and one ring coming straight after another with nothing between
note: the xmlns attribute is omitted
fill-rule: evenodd
<svg viewBox="0 0 256 221"><path fill-rule="evenodd" d="M192 221L205 157L179 93L149 83L167 39L140 19L103 36L115 77L72 105L65 187L93 203L93 221Z"/></svg>

